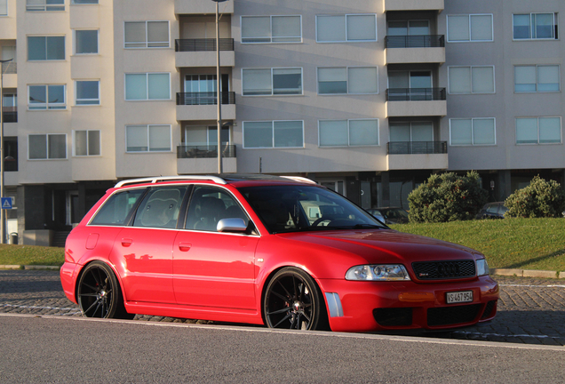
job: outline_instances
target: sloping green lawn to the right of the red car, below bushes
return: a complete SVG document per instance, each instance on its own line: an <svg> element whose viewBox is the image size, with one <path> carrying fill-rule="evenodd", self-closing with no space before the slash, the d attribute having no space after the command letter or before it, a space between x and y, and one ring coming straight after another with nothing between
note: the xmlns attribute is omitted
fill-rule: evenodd
<svg viewBox="0 0 565 384"><path fill-rule="evenodd" d="M391 226L482 252L490 268L565 271L564 219L453 221Z"/></svg>

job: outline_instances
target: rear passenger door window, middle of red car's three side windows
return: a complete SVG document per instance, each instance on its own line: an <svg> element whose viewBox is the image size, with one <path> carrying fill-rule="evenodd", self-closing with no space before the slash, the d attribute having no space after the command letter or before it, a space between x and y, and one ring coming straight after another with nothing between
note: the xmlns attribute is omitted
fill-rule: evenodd
<svg viewBox="0 0 565 384"><path fill-rule="evenodd" d="M139 204L134 227L177 228L180 204L187 187L153 188Z"/></svg>

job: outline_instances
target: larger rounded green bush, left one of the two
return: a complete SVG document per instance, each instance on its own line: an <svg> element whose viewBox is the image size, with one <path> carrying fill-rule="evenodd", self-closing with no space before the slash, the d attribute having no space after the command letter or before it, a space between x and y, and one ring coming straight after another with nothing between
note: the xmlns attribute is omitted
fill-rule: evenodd
<svg viewBox="0 0 565 384"><path fill-rule="evenodd" d="M486 204L489 193L481 188L479 173L434 174L408 196L410 221L472 220Z"/></svg>

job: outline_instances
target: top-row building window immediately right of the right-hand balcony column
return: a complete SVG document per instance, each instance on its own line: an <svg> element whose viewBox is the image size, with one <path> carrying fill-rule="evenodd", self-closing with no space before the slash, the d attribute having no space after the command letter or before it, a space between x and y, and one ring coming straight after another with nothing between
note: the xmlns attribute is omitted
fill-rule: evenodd
<svg viewBox="0 0 565 384"><path fill-rule="evenodd" d="M448 42L488 42L494 40L491 14L448 15Z"/></svg>

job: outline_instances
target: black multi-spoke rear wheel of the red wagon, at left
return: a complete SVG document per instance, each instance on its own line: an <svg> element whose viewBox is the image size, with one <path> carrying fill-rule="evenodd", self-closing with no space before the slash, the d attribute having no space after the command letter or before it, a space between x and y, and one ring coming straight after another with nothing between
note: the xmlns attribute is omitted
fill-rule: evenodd
<svg viewBox="0 0 565 384"><path fill-rule="evenodd" d="M112 268L101 261L92 261L76 287L78 305L85 317L132 319L123 307L123 294Z"/></svg>

